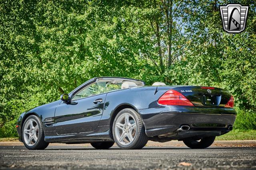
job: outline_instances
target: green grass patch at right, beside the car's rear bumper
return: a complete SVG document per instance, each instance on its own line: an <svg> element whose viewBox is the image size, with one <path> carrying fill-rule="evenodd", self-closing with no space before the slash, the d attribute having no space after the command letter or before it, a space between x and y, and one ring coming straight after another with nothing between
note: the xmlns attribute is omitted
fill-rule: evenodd
<svg viewBox="0 0 256 170"><path fill-rule="evenodd" d="M222 136L217 136L216 140L256 140L256 130L235 129Z"/></svg>

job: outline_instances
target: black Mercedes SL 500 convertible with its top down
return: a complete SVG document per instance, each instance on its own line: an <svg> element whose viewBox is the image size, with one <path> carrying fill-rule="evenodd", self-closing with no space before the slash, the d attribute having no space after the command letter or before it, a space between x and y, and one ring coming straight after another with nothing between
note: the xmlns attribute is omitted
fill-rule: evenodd
<svg viewBox="0 0 256 170"><path fill-rule="evenodd" d="M207 148L232 130L235 119L234 98L221 88L96 77L60 100L22 113L16 128L30 150L52 142L90 143L96 149L116 142L122 149L140 149L148 140Z"/></svg>

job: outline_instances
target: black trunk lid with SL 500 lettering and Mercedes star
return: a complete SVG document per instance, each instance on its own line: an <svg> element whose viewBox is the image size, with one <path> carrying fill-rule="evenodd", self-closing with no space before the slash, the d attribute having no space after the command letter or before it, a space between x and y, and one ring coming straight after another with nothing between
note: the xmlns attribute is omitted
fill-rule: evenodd
<svg viewBox="0 0 256 170"><path fill-rule="evenodd" d="M186 96L197 107L224 107L231 94L221 88L203 86L177 86L173 88Z"/></svg>

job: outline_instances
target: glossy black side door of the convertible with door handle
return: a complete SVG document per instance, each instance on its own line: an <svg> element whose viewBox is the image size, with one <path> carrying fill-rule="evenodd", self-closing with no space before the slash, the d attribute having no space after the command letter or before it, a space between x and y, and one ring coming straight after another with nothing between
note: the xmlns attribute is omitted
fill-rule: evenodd
<svg viewBox="0 0 256 170"><path fill-rule="evenodd" d="M59 135L92 132L103 113L105 94L62 103L55 111L55 128Z"/></svg>

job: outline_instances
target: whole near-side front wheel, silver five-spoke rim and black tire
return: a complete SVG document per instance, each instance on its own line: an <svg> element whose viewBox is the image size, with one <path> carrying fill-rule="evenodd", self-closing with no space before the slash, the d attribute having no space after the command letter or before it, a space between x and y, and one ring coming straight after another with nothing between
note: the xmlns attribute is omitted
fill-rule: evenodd
<svg viewBox="0 0 256 170"><path fill-rule="evenodd" d="M22 141L29 150L42 150L48 146L49 143L44 141L43 124L37 116L26 118L22 126Z"/></svg>

